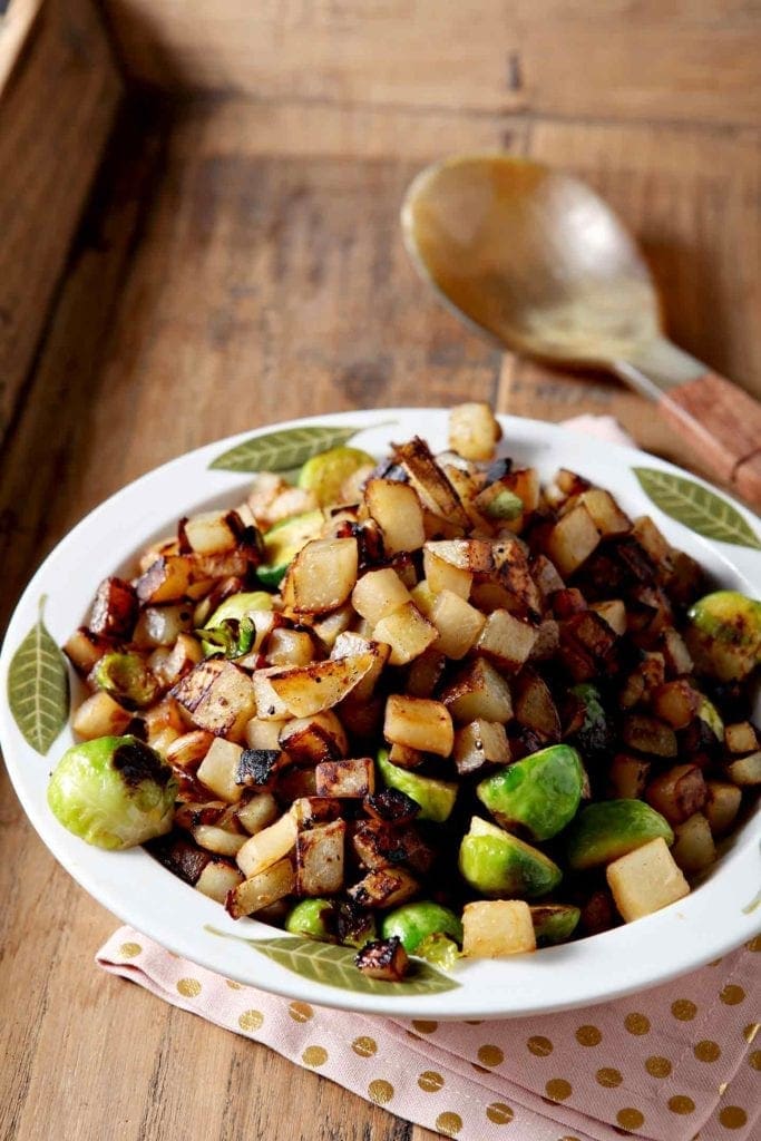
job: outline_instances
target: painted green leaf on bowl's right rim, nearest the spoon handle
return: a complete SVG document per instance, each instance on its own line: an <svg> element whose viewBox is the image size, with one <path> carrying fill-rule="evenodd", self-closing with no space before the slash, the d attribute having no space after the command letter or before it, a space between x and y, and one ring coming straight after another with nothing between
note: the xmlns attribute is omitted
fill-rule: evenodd
<svg viewBox="0 0 761 1141"><path fill-rule="evenodd" d="M655 468L634 468L649 500L678 523L705 539L761 551L761 540L739 511L721 495L686 476Z"/></svg>

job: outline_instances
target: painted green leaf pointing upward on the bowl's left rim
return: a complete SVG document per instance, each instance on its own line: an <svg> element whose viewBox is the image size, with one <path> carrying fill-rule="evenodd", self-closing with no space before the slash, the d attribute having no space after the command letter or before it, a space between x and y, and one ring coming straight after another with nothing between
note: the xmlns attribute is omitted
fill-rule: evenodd
<svg viewBox="0 0 761 1141"><path fill-rule="evenodd" d="M66 659L40 617L14 654L8 671L8 705L24 739L46 755L68 718Z"/></svg>

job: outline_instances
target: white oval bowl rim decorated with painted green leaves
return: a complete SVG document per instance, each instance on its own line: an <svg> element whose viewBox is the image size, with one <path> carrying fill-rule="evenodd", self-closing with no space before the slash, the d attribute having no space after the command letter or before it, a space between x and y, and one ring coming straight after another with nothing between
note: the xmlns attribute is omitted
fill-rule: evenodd
<svg viewBox="0 0 761 1141"><path fill-rule="evenodd" d="M307 439L315 428L325 426L345 429L353 444L379 456L391 440L402 442L414 434L427 438L434 450L446 447L447 413L438 408L331 414L278 424L277 431L307 428ZM651 515L674 545L701 561L717 585L761 594L761 531L744 508L723 495L717 500L707 485L633 448L532 420L507 416L502 426L504 452L537 467L543 479L559 466L581 472L609 488L629 515ZM211 464L241 444L269 437L273 431L270 427L244 432L180 456L130 484L83 519L40 567L18 604L0 657L3 691L8 691L11 661L38 623L41 599L46 600L44 626L60 645L86 620L102 578L129 573L135 556L151 540L170 533L180 516L240 501L251 469L230 471ZM292 439L275 437L281 455ZM300 461L297 456L293 463L283 462L292 467ZM649 479L650 486L653 480L659 483L662 493L670 496L661 502L690 526L664 513L646 495L637 468L655 474L642 478ZM721 533L732 542L703 537L691 529L695 526L714 534L723 527ZM72 685L76 691L73 679ZM533 955L463 961L451 976L430 973L418 985L379 984L357 989L366 984L359 972L345 970L349 952L314 942L301 947L293 937L258 921L234 922L219 904L183 883L143 849L102 851L63 828L47 806L46 788L50 770L72 744L68 725L42 755L25 739L6 704L0 709L0 741L32 824L95 899L176 954L241 982L311 1003L435 1019L547 1013L663 982L751 939L761 925L761 907L756 906L761 816L756 814L705 882L654 915ZM256 949L257 944L265 953ZM447 989L437 989L439 986Z"/></svg>

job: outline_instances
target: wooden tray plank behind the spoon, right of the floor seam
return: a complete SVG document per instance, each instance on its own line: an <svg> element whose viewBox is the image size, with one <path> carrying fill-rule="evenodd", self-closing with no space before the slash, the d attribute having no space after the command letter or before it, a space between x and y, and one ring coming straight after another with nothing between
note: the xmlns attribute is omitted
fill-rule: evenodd
<svg viewBox="0 0 761 1141"><path fill-rule="evenodd" d="M751 132L534 123L532 156L598 189L641 241L678 345L761 397L761 146ZM507 358L504 408L537 419L607 413L650 451L701 468L640 397L607 378Z"/></svg>

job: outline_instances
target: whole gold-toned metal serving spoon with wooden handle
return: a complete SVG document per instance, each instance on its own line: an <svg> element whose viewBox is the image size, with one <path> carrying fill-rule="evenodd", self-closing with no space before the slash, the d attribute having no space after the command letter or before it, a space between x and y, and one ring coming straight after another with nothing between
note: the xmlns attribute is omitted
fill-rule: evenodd
<svg viewBox="0 0 761 1141"><path fill-rule="evenodd" d="M667 340L637 244L584 183L526 159L458 155L418 175L402 226L460 317L516 353L614 372L761 507L761 404Z"/></svg>

